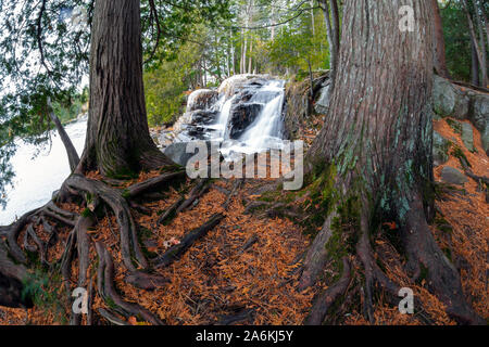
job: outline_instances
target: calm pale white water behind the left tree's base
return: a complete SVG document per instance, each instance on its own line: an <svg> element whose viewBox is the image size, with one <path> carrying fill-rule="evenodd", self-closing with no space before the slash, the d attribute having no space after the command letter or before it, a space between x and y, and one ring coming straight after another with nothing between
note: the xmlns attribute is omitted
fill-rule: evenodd
<svg viewBox="0 0 489 347"><path fill-rule="evenodd" d="M85 144L87 121L79 120L66 126L66 132L73 141L78 154ZM15 171L13 188L7 191L8 204L0 208L0 226L10 224L15 217L45 205L52 192L60 189L70 176L70 164L66 151L58 132L52 134L52 147L46 147L37 157L34 145L18 142L17 152L11 163Z"/></svg>

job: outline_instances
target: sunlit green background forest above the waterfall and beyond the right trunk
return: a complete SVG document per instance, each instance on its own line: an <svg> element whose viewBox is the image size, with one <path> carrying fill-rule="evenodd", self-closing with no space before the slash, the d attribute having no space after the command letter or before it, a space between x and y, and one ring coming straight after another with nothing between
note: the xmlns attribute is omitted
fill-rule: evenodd
<svg viewBox="0 0 489 347"><path fill-rule="evenodd" d="M467 3L477 44L487 44L487 24L486 28L476 24L473 3ZM480 4L488 10L487 3ZM481 86L464 1L440 1L439 7L450 75L454 80ZM272 74L286 79L296 75L301 80L309 77L310 69L328 69L324 9L325 1L314 0L234 0L231 17L225 23L192 27L176 50L161 52L167 60L147 67L150 125L159 126L177 116L186 91L218 86L235 74Z"/></svg>

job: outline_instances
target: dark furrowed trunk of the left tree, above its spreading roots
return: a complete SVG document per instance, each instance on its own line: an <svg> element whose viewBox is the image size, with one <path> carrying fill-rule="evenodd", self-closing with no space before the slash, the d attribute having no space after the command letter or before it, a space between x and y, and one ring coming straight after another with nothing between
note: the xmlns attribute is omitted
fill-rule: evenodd
<svg viewBox="0 0 489 347"><path fill-rule="evenodd" d="M98 0L90 52L90 111L78 171L128 176L168 164L149 134L139 0Z"/></svg>

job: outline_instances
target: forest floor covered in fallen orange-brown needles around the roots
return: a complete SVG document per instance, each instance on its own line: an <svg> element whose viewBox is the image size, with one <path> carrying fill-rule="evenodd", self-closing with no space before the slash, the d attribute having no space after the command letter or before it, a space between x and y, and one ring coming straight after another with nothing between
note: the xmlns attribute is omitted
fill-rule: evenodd
<svg viewBox="0 0 489 347"><path fill-rule="evenodd" d="M303 129L304 140L314 138L321 120L312 123L310 129ZM461 136L444 120L436 120L435 129L444 138L460 147L475 175L487 176L489 158L481 147L480 136L476 129L476 152L471 153L464 146ZM489 318L488 297L488 241L489 241L489 204L486 192L479 183L468 178L463 187L449 188L441 183L440 172L444 166L459 168L460 154L451 153L448 163L435 169L435 178L440 192L437 195L437 218L431 230L440 247L461 272L462 284L469 303L484 318ZM136 181L145 181L158 176L159 172L142 174ZM102 179L97 172L92 179ZM184 185L190 185L187 181ZM147 214L134 210L141 234L141 243L148 257L162 255L188 233L202 226L211 216L217 213L225 219L211 230L204 237L193 244L181 258L168 267L154 270L166 281L154 290L138 290L126 282L128 275L122 264L117 223L114 216L98 220L97 227L90 230L92 241L102 241L114 257L115 282L118 292L125 300L138 303L155 312L167 324L302 324L314 296L328 283L319 283L314 290L299 293L298 283L301 259L311 242L311 236L303 226L293 218L277 214L249 213L247 207L253 203L263 203L261 192L274 187L271 180L247 180L239 190L234 190L236 181L215 180L208 193L193 206L178 214L166 226L158 224L162 211L180 198L181 191L170 189L163 200L143 202ZM275 188L276 189L276 188ZM187 190L188 191L188 190ZM233 194L235 192L235 194ZM230 196L227 209L223 206ZM285 193L276 195L283 201ZM304 195L291 204L303 204ZM313 203L311 201L311 203ZM80 213L76 205L62 206L65 209ZM42 235L42 227L38 233ZM70 229L60 228L59 236L64 242ZM444 312L443 305L426 288L424 280L413 283L403 271L403 258L392 246L398 229L394 222L385 223L381 232L375 234L376 257L392 280L413 288L419 297L426 312L414 316L401 314L397 307L388 304L384 296L377 297L375 304L375 324L426 324L427 313L431 324L454 324ZM47 236L47 235L46 235ZM20 240L23 240L21 234ZM63 242L50 249L48 260L61 257ZM97 264L97 255L90 257ZM361 265L352 259L352 271L359 274ZM77 262L73 265L73 278L76 278ZM334 269L331 268L331 271ZM90 279L96 286L97 269L89 269ZM45 304L34 309L7 309L0 307L1 324L64 324L67 321L66 293L63 294L63 283L53 277L49 292L43 296ZM72 288L76 287L75 283ZM360 310L361 295L351 294L341 307L337 309L340 316L333 317L328 322L338 324L369 324ZM99 296L95 295L92 310L106 307ZM106 323L98 318L100 323ZM121 317L121 319L123 319ZM93 323L97 323L97 318ZM127 320L128 324L145 324L135 317Z"/></svg>

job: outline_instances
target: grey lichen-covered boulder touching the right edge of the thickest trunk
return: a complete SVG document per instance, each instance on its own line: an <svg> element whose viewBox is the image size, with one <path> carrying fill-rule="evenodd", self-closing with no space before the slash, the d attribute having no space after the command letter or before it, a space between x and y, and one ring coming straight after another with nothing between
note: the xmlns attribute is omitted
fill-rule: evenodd
<svg viewBox="0 0 489 347"><path fill-rule="evenodd" d="M435 75L434 110L441 117L466 119L471 104L471 98L462 89L448 79Z"/></svg>

